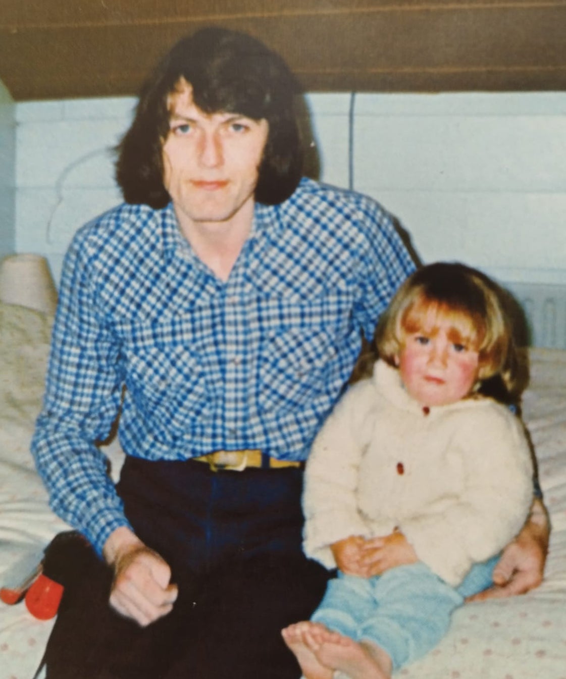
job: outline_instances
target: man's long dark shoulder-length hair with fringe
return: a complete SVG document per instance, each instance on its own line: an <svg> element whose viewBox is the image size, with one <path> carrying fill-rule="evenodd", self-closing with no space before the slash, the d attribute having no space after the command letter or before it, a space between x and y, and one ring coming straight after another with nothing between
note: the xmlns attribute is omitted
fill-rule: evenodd
<svg viewBox="0 0 566 679"><path fill-rule="evenodd" d="M289 198L303 167L297 81L283 59L260 41L208 28L181 39L143 87L134 120L117 149L116 179L124 200L152 208L171 200L163 185L162 146L169 134L168 98L183 78L205 113L267 120L255 200L274 205Z"/></svg>

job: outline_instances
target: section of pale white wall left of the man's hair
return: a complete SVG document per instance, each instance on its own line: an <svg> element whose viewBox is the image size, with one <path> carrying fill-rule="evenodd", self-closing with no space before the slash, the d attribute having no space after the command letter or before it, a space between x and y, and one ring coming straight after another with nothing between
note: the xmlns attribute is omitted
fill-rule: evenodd
<svg viewBox="0 0 566 679"><path fill-rule="evenodd" d="M120 202L111 149L133 98L16 106L16 251L46 255L58 280L74 232Z"/></svg>

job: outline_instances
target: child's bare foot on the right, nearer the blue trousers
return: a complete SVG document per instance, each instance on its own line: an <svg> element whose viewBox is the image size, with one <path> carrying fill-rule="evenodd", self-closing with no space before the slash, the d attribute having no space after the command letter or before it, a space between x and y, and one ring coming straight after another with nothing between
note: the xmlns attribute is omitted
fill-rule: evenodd
<svg viewBox="0 0 566 679"><path fill-rule="evenodd" d="M353 639L328 631L328 636L318 637L320 644L315 655L323 667L332 667L351 679L390 679L391 659L385 650L369 642Z"/></svg>

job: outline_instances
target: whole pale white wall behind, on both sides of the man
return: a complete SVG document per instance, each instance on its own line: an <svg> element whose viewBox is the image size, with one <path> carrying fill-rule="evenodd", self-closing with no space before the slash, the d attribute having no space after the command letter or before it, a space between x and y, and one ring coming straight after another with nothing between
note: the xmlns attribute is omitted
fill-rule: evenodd
<svg viewBox="0 0 566 679"><path fill-rule="evenodd" d="M566 284L566 93L311 94L307 104L321 179L380 200L423 261ZM16 251L46 254L56 278L77 227L120 200L109 149L134 105L16 105Z"/></svg>

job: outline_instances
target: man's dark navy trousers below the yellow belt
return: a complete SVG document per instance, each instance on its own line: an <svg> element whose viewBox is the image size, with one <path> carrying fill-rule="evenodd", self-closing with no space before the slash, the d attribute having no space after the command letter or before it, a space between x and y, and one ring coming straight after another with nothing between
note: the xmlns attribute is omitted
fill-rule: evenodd
<svg viewBox="0 0 566 679"><path fill-rule="evenodd" d="M301 549L302 471L127 458L118 492L179 598L141 628L110 608L111 570L94 552L77 555L48 679L298 679L280 630L311 616L328 580Z"/></svg>

